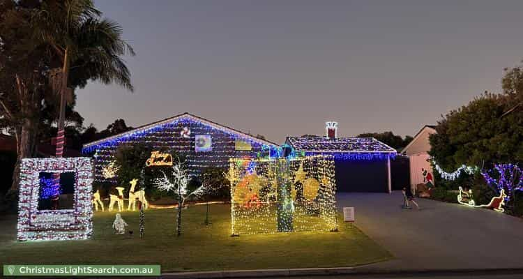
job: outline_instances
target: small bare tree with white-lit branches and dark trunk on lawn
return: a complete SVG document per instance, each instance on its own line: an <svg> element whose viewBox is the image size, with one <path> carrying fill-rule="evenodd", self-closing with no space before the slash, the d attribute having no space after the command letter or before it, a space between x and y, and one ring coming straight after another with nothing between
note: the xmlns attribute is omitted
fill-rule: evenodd
<svg viewBox="0 0 523 279"><path fill-rule="evenodd" d="M190 191L187 188L189 183L189 176L187 169L183 167L180 160L176 165L172 166L172 177L169 179L165 172L162 172L162 177L154 179L153 183L159 190L172 191L178 200L178 214L176 218L176 236L181 235L181 209L185 203L185 199L191 195L199 196L204 193L204 186L199 186L196 190Z"/></svg>

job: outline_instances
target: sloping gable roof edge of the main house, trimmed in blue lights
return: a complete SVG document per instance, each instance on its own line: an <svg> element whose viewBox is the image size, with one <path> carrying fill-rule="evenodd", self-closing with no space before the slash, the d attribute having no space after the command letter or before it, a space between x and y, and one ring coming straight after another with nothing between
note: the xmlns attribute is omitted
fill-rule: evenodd
<svg viewBox="0 0 523 279"><path fill-rule="evenodd" d="M190 120L190 121L200 122L200 123L203 123L205 125L211 126L211 127L215 128L215 129L222 130L225 133L234 134L234 135L237 135L238 137L242 137L244 140L250 140L252 142L257 142L259 144L278 146L278 144L275 144L274 142L269 142L268 140L261 140L261 139L259 139L257 137L249 135L248 133L243 133L243 132L241 132L239 130L236 130L236 129L233 129L233 128L229 128L227 126L215 123L215 122L210 121L208 119L204 119L203 117L195 116L194 114L190 114L188 112L185 112L183 114L178 114L176 116L172 116L172 117L169 117L167 119L162 119L160 121L149 123L149 124L146 124L144 126L139 126L137 128L134 128L132 130L128 130L127 132L120 133L118 135L113 135L111 137L105 137L104 139L96 140L95 142L89 142L88 144L84 144L84 148L83 149L84 150L85 149L90 149L90 148L93 148L94 146L97 146L97 145L100 145L100 144L105 144L107 142L112 142L112 141L115 141L115 140L116 141L118 141L118 140L125 141L126 137L135 137L135 136L139 136L139 135L145 135L146 133L152 131L153 129L159 128L159 127L161 127L161 126L163 126L165 124L176 123L176 122L182 121L182 120Z"/></svg>

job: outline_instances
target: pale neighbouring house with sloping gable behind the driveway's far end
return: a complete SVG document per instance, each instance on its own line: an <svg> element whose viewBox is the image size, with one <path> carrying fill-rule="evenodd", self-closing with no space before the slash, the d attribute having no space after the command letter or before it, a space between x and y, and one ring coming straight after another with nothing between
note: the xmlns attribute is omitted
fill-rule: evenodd
<svg viewBox="0 0 523 279"><path fill-rule="evenodd" d="M416 191L416 185L420 183L434 185L434 172L432 171L428 151L430 151L429 136L435 133L437 133L436 126L423 126L414 136L414 140L402 150L402 154L409 156L411 189L413 193Z"/></svg>

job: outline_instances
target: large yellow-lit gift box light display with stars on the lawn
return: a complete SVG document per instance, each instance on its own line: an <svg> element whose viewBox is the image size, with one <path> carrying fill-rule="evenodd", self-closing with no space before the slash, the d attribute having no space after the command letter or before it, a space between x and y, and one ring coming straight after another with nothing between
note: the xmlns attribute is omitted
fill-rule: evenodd
<svg viewBox="0 0 523 279"><path fill-rule="evenodd" d="M334 160L231 159L232 235L335 231Z"/></svg>

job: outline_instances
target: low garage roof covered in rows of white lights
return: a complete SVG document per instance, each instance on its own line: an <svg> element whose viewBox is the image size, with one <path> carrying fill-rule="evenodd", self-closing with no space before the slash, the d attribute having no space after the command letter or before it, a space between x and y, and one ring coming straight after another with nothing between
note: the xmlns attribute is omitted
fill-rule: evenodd
<svg viewBox="0 0 523 279"><path fill-rule="evenodd" d="M391 146L374 137L287 137L295 151L345 153L396 153Z"/></svg>

